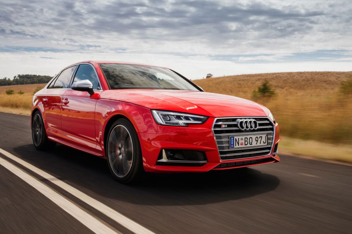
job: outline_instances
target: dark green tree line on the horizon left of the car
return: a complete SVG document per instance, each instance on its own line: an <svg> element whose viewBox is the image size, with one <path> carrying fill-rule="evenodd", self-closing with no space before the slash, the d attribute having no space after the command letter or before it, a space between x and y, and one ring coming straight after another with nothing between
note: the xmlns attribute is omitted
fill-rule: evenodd
<svg viewBox="0 0 352 234"><path fill-rule="evenodd" d="M0 86L4 85L27 85L27 84L42 84L48 83L52 76L49 75L17 75L11 80L10 78L0 79Z"/></svg>

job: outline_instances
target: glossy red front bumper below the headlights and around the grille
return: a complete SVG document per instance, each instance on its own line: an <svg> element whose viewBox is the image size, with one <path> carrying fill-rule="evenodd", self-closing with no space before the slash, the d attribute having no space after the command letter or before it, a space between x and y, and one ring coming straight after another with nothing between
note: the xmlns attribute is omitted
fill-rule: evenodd
<svg viewBox="0 0 352 234"><path fill-rule="evenodd" d="M279 162L279 156L270 155L221 160L216 145L212 127L215 118L209 118L202 125L188 127L158 125L158 131L153 133L138 133L142 148L143 165L147 172L207 172L231 168L249 167L271 162ZM274 145L280 141L279 127L275 123ZM158 156L162 149L183 149L205 152L207 163L203 166L164 166L157 165Z"/></svg>

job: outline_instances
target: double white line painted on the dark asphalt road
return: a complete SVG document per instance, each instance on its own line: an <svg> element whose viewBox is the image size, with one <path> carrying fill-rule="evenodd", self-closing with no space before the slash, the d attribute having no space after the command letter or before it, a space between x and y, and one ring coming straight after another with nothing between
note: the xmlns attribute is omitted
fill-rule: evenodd
<svg viewBox="0 0 352 234"><path fill-rule="evenodd" d="M42 171L41 169L31 165L30 163L16 157L15 155L8 153L0 148L0 153L5 155L7 158L12 159L13 161L19 163L20 165L30 169L32 172L42 176L43 178L51 181L55 185L59 186L60 188L64 189L68 193L74 195L76 198L80 199L81 201L87 203L89 206L92 206L99 212L105 214L109 218L113 219L114 221L118 222L121 226L131 230L134 233L145 233L145 234L153 234L150 230L146 229L145 227L139 225L138 223L134 222L131 219L128 219L126 216L120 214L119 212L113 210L112 208L104 205L98 200L91 198L85 193L82 193L80 190L68 185L67 183L57 179L56 177ZM80 221L83 225L88 227L95 233L101 234L110 234L110 233L119 233L117 230L109 227L106 223L103 223L101 220L97 219L93 215L89 214L82 208L75 205L73 202L69 201L67 198L62 196L61 194L57 193L54 189L50 188L49 186L45 185L43 182L40 182L30 174L24 172L19 167L13 165L12 163L8 162L7 160L0 157L0 165L7 168L10 172L17 175L19 178L27 182L33 188L37 189L40 193L44 196L49 198L53 201L56 205L61 207L67 213L72 215L75 219Z"/></svg>

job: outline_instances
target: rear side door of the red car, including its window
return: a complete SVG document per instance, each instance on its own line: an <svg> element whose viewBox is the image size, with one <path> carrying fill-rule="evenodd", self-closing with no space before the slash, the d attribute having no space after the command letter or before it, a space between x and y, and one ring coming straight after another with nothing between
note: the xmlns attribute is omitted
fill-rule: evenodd
<svg viewBox="0 0 352 234"><path fill-rule="evenodd" d="M44 123L46 134L54 138L62 138L61 126L61 102L64 93L70 85L72 75L76 69L75 66L64 69L56 79L46 88L42 95L44 106Z"/></svg>

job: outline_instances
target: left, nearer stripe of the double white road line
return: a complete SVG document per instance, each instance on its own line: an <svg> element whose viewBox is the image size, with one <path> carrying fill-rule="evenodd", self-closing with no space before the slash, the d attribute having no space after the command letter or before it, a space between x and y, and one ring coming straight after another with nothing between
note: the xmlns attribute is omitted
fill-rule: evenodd
<svg viewBox="0 0 352 234"><path fill-rule="evenodd" d="M69 201L68 199L64 198L62 195L55 192L50 187L46 186L44 183L39 182L39 180L35 179L31 175L27 174L26 172L22 171L20 168L16 167L12 163L6 161L5 159L0 157L0 165L8 169L13 174L17 175L19 178L24 180L25 182L29 183L33 188L37 189L40 193L44 196L49 198L53 201L56 205L60 208L65 210L67 213L72 215L75 219L80 221L83 225L88 227L94 233L112 233L116 234L113 229L106 226L104 223L93 217L92 215L88 214L86 211L81 209L80 207L76 206L74 203Z"/></svg>

